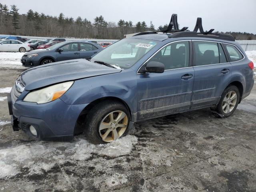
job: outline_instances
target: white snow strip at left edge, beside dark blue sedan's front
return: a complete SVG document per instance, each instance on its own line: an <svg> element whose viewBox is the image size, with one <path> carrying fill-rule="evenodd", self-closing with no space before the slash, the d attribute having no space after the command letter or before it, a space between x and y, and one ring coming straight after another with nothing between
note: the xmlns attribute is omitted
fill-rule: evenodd
<svg viewBox="0 0 256 192"><path fill-rule="evenodd" d="M24 68L20 62L23 55L20 52L0 52L0 67Z"/></svg>

